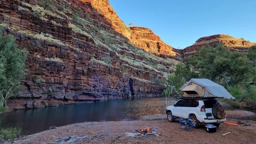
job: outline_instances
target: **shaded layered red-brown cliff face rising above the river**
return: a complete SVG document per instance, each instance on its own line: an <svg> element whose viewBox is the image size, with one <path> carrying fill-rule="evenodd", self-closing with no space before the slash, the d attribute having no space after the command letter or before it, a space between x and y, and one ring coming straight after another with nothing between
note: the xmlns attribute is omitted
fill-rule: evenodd
<svg viewBox="0 0 256 144"><path fill-rule="evenodd" d="M161 95L162 81L179 62L133 46L94 2L0 0L4 33L28 50L23 88L9 107Z"/></svg>

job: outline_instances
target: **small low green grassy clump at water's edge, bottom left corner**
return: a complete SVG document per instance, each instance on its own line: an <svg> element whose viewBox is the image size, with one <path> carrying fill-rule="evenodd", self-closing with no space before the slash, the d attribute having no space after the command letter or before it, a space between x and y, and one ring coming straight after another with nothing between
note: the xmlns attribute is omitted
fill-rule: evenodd
<svg viewBox="0 0 256 144"><path fill-rule="evenodd" d="M2 139L14 141L14 138L19 138L21 134L21 128L2 128L1 129Z"/></svg>

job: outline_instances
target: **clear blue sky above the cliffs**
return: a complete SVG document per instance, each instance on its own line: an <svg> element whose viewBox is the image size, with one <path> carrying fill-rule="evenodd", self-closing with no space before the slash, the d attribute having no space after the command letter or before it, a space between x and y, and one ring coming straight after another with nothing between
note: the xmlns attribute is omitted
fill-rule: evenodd
<svg viewBox="0 0 256 144"><path fill-rule="evenodd" d="M228 34L256 42L256 0L109 0L128 26L150 28L183 49L198 38Z"/></svg>

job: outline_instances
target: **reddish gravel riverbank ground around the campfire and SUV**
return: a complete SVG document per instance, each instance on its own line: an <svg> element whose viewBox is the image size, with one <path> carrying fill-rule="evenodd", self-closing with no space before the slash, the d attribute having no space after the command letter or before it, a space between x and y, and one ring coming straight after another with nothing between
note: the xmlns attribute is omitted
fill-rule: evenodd
<svg viewBox="0 0 256 144"><path fill-rule="evenodd" d="M227 122L237 123L247 116L256 116L248 111L226 111ZM14 144L252 144L256 142L256 121L251 126L221 124L216 133L207 133L204 127L180 131L178 121L170 123L166 114L146 116L139 121L85 122L70 124L44 132L22 136ZM160 120L164 119L164 120ZM160 136L144 137L135 134L135 129L154 127ZM231 132L227 135L224 133ZM4 142L6 144L10 141Z"/></svg>

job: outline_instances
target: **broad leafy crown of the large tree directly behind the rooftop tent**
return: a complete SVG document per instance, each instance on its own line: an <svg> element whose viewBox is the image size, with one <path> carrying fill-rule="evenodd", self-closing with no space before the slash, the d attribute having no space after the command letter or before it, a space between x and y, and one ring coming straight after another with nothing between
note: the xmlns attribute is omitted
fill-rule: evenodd
<svg viewBox="0 0 256 144"><path fill-rule="evenodd" d="M250 59L245 53L232 52L222 44L205 46L194 57L185 58L186 65L191 66L202 78L208 78L225 87L233 87L241 81L251 81Z"/></svg>

